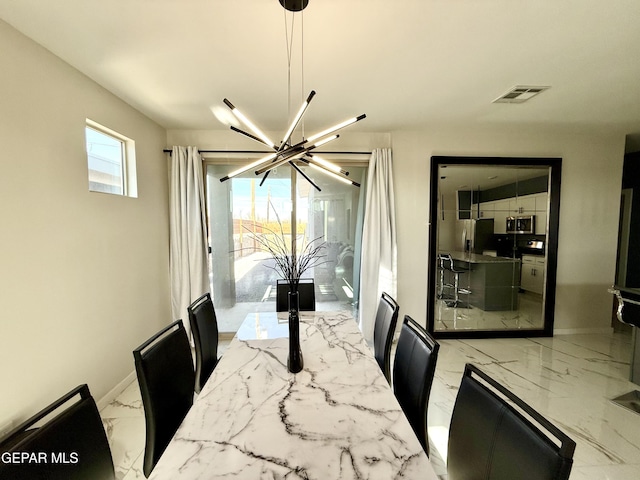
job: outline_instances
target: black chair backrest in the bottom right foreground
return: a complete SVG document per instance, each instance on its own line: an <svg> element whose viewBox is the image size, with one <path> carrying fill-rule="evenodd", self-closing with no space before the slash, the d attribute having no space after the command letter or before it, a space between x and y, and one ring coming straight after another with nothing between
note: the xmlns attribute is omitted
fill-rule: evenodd
<svg viewBox="0 0 640 480"><path fill-rule="evenodd" d="M575 447L520 398L467 364L449 429L449 479L565 480Z"/></svg>

